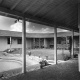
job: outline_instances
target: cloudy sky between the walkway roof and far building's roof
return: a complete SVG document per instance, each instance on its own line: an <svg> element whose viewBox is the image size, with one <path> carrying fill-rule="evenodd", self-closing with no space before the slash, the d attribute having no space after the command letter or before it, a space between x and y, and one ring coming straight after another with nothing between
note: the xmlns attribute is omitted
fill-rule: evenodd
<svg viewBox="0 0 80 80"><path fill-rule="evenodd" d="M0 16L0 30L10 31L22 31L22 21L16 19ZM66 32L67 30L58 29L58 32ZM26 21L26 32L27 33L54 33L54 28L46 25L36 24Z"/></svg>

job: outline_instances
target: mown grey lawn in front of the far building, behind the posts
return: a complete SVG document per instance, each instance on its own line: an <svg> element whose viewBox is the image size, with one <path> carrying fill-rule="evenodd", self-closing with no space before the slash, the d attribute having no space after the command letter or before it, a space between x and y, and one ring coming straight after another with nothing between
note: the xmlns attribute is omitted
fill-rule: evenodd
<svg viewBox="0 0 80 80"><path fill-rule="evenodd" d="M45 59L46 57L48 57L49 60L54 60L54 50L53 49L28 49L26 50L26 53L28 54L28 52L31 51L31 55L33 56L38 56L41 57L43 59ZM12 54L22 54L22 50L17 50L15 52L13 52ZM69 50L57 50L57 58L58 60L63 60L63 55L67 55L70 56Z"/></svg>

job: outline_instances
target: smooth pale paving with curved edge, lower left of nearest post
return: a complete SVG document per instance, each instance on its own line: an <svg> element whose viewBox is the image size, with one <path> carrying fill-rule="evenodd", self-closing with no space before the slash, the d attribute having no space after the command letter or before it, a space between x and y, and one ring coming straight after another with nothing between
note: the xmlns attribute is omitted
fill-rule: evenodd
<svg viewBox="0 0 80 80"><path fill-rule="evenodd" d="M20 68L22 65L17 61L0 60L0 72Z"/></svg>

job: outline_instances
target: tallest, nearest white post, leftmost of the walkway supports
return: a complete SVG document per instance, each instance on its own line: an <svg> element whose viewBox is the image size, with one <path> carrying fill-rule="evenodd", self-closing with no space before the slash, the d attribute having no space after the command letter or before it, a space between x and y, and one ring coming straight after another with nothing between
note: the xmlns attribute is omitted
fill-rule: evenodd
<svg viewBox="0 0 80 80"><path fill-rule="evenodd" d="M22 22L22 73L26 73L26 21Z"/></svg>

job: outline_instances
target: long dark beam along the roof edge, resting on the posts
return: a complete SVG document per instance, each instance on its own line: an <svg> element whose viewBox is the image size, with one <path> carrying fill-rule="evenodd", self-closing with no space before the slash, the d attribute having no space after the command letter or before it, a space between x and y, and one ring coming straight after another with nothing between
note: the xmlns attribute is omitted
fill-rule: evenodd
<svg viewBox="0 0 80 80"><path fill-rule="evenodd" d="M58 26L59 28L62 28L62 29L72 30L72 28L70 26L65 25L65 24L61 24L61 23L58 23L58 22L55 22L55 21L54 22L49 21L47 19L40 19L40 18L32 17L31 15L23 14L21 12L17 12L17 11L14 11L14 10L9 10L9 9L3 8L3 7L0 7L0 13L2 13L3 15L7 14L7 16L12 17L12 18L16 18L16 19L17 18L22 19L22 17L25 16L26 21L28 20L30 22L34 22L34 23L38 23L38 24L42 24L42 25L47 25L47 26L51 26L51 27ZM75 31L78 31L77 28L73 28L73 29Z"/></svg>

